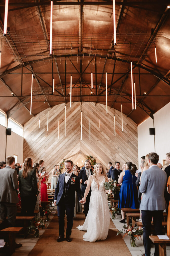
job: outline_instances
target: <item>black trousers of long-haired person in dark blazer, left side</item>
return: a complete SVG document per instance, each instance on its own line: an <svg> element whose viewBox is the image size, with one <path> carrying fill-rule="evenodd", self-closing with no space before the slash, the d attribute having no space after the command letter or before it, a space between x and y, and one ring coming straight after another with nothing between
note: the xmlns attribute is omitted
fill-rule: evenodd
<svg viewBox="0 0 170 256"><path fill-rule="evenodd" d="M36 202L36 195L21 197L21 216L34 216Z"/></svg>

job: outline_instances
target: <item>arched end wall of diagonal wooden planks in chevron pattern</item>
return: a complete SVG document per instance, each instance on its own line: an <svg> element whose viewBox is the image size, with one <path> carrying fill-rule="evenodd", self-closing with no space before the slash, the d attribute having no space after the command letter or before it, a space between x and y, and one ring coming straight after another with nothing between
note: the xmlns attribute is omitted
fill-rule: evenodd
<svg viewBox="0 0 170 256"><path fill-rule="evenodd" d="M91 140L89 140L89 104L91 120ZM100 107L99 107L100 105ZM121 112L106 105L84 102L66 104L66 137L64 137L65 104L49 109L49 130L47 132L47 110L30 119L24 125L24 159L31 157L36 163L44 160L44 166L51 172L54 164L63 158L71 159L82 166L86 155L96 156L97 162L107 167L108 162L131 161L138 165L137 124L123 114L123 132L121 130ZM82 108L82 141L81 141ZM99 111L100 109L100 111ZM60 112L60 113L59 113ZM114 113L116 118L116 136L114 135ZM38 127L40 116L40 129ZM99 128L99 116L101 128ZM60 120L60 138L58 139L58 120ZM24 160L23 159L23 160ZM51 180L51 178L49 178Z"/></svg>

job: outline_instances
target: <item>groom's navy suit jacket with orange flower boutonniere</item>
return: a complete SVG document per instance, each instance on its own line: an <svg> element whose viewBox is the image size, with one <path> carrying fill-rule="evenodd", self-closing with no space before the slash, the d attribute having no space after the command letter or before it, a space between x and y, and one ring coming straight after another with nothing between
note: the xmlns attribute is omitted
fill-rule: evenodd
<svg viewBox="0 0 170 256"><path fill-rule="evenodd" d="M73 177L75 178L75 183L71 184L71 179ZM56 205L59 203L63 195L64 180L65 180L65 173L60 174L56 188L55 188L55 194L54 194L54 200L57 200ZM80 189L80 180L75 174L72 173L69 179L69 185L68 185L66 194L70 202L70 205L74 205L74 206L75 206L75 191L77 192L78 200L80 201L82 199L81 189Z"/></svg>

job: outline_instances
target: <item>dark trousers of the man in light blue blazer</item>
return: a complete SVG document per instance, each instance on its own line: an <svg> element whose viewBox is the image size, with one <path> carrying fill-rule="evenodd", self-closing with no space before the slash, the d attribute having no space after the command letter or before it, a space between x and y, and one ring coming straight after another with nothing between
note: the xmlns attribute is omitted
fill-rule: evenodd
<svg viewBox="0 0 170 256"><path fill-rule="evenodd" d="M163 211L143 211L142 210L142 224L143 224L143 243L145 248L145 255L151 255L151 221L153 217L154 235L162 235L162 218ZM159 255L158 244L155 244L154 256Z"/></svg>

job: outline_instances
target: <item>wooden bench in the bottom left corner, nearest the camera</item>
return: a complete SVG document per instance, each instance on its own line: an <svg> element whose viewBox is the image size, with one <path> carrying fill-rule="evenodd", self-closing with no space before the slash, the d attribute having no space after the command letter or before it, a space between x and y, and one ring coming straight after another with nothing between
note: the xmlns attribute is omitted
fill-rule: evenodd
<svg viewBox="0 0 170 256"><path fill-rule="evenodd" d="M5 228L0 231L1 234L8 234L8 246L9 251L7 255L12 255L15 252L15 235L19 233L23 228L22 227L10 227Z"/></svg>

